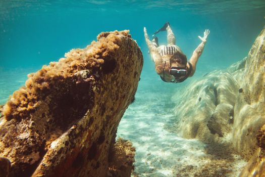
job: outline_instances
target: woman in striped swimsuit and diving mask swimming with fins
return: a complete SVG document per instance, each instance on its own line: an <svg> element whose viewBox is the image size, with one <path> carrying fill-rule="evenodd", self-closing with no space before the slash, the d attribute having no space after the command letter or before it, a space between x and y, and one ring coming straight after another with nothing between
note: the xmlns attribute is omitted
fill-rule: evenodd
<svg viewBox="0 0 265 177"><path fill-rule="evenodd" d="M159 46L158 39L155 34L166 30L168 45ZM188 77L193 76L197 61L202 54L207 36L210 33L208 29L204 31L203 37L198 36L201 40L201 43L195 49L188 62L186 55L184 55L181 49L176 46L176 38L172 29L170 28L169 22L167 22L160 30L153 34L152 41L149 40L145 27L143 31L150 55L153 62L155 63L155 71L158 75L160 75L163 81L178 83L183 82Z"/></svg>

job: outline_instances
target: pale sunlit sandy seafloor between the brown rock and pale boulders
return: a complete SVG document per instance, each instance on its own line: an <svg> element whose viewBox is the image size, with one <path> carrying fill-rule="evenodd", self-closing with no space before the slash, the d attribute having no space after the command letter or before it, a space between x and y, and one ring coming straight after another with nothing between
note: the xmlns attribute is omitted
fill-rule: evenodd
<svg viewBox="0 0 265 177"><path fill-rule="evenodd" d="M136 176L237 176L246 162L225 145L206 145L171 132L172 86L142 78L136 101L123 116L117 137L136 147ZM159 82L158 82L159 83ZM179 85L181 86L181 85ZM173 95L173 93L172 93Z"/></svg>

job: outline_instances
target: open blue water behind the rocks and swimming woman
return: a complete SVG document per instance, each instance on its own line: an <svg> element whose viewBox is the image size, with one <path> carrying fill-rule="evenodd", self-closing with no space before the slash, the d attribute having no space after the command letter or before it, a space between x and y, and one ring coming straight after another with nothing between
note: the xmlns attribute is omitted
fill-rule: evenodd
<svg viewBox="0 0 265 177"><path fill-rule="evenodd" d="M15 86L11 81L17 82L20 77L25 80L25 72L35 72L50 61L58 61L72 48L84 48L101 31L130 29L144 55L142 78L157 78L147 53L144 26L150 35L169 21L177 45L188 58L200 42L197 36L210 29L195 76L224 69L247 56L264 25L264 10L263 1L2 0L0 104L23 84L19 81ZM158 38L165 43L166 33L159 33ZM164 85L159 80L157 84Z"/></svg>

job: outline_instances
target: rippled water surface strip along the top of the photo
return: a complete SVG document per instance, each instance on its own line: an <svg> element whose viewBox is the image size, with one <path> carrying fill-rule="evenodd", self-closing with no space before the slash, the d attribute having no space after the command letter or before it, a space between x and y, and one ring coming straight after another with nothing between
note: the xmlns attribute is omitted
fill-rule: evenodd
<svg viewBox="0 0 265 177"><path fill-rule="evenodd" d="M129 8L128 8L129 7ZM87 8L89 11L141 11L141 10L179 10L188 11L194 14L209 14L216 12L235 13L238 11L246 12L253 10L261 10L265 7L264 1L248 1L248 0L234 0L234 1L0 1L0 13L5 14L11 10L38 10L38 11L52 11L58 8L68 8L74 10L76 8Z"/></svg>

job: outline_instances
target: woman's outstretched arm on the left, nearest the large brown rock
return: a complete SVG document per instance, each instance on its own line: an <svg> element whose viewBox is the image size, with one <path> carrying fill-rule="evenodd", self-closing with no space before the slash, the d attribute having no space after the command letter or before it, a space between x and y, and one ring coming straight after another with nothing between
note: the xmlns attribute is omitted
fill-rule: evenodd
<svg viewBox="0 0 265 177"><path fill-rule="evenodd" d="M149 37L148 37L148 34L146 32L145 27L143 28L143 32L144 32L144 38L145 38L146 45L149 49L152 60L155 63L155 71L157 74L160 75L164 71L163 59L162 59L161 55L159 54L157 48L149 40Z"/></svg>

